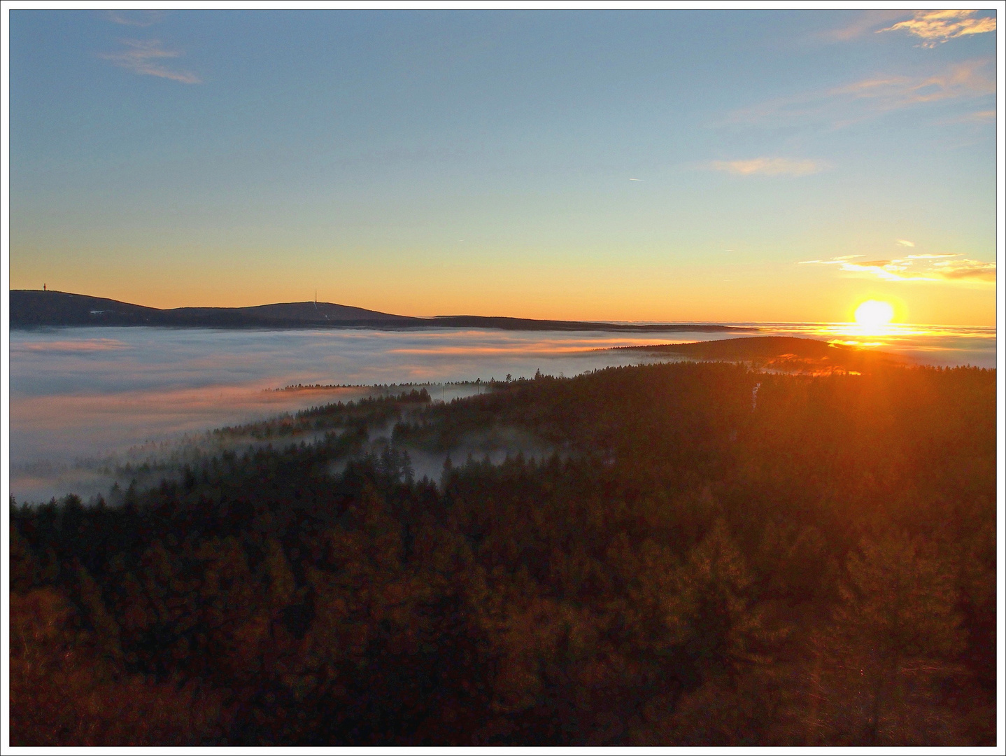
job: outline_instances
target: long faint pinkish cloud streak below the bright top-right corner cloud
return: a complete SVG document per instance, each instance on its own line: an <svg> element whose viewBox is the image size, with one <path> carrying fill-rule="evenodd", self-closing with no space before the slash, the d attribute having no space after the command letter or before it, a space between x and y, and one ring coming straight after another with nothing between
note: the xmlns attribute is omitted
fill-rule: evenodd
<svg viewBox="0 0 1006 756"><path fill-rule="evenodd" d="M992 58L964 60L924 77L877 75L776 98L736 110L725 123L773 127L831 122L841 127L902 108L975 100L996 93L992 63Z"/></svg>

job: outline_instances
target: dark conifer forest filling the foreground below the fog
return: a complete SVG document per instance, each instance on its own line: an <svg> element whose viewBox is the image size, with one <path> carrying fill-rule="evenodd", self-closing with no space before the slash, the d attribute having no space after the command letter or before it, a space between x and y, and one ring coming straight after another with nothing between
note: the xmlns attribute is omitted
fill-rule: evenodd
<svg viewBox="0 0 1006 756"><path fill-rule="evenodd" d="M995 409L679 363L221 431L12 507L11 743L994 745Z"/></svg>

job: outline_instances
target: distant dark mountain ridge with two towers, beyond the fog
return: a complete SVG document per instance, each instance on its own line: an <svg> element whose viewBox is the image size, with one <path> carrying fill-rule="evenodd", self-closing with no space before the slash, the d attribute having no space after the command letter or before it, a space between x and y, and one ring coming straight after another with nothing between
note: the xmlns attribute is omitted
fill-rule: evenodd
<svg viewBox="0 0 1006 756"><path fill-rule="evenodd" d="M482 315L417 318L330 302L282 302L256 307L157 307L61 291L12 289L10 326L150 325L189 328L497 328L502 330L754 331L704 323L625 324L576 320L533 320Z"/></svg>

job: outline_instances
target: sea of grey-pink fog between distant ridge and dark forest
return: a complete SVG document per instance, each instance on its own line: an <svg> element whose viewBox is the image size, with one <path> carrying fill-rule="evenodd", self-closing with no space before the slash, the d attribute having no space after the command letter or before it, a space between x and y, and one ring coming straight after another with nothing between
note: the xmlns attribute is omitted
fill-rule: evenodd
<svg viewBox="0 0 1006 756"><path fill-rule="evenodd" d="M736 323L735 325L751 325ZM882 335L838 324L758 324L735 331L613 333L437 328L217 330L38 328L10 332L10 492L44 500L94 493L109 460L147 458L206 430L384 390L427 385L435 400L482 389L469 382L575 375L659 361L614 346L813 336L882 348L920 362L994 367L995 329L897 326ZM325 391L275 391L296 385Z"/></svg>

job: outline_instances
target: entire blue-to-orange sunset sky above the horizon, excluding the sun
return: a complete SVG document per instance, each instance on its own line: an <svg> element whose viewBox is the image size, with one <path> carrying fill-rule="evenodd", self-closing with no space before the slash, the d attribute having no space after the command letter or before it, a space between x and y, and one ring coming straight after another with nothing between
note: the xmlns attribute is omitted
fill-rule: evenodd
<svg viewBox="0 0 1006 756"><path fill-rule="evenodd" d="M10 11L10 287L995 324L994 11Z"/></svg>

